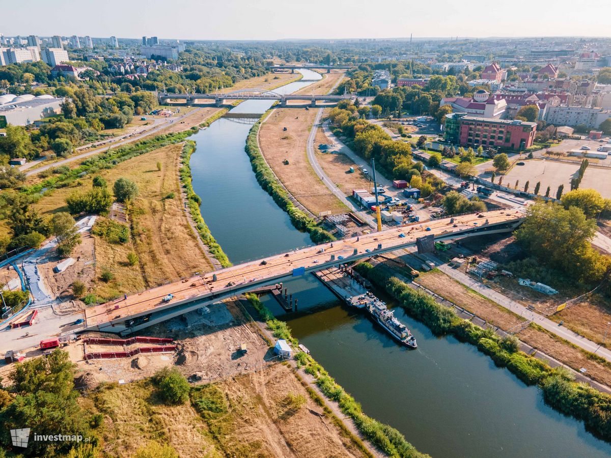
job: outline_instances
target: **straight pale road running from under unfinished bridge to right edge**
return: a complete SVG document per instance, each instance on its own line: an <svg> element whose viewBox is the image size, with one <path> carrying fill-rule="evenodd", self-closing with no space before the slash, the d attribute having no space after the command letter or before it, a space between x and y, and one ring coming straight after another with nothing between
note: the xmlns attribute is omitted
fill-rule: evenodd
<svg viewBox="0 0 611 458"><path fill-rule="evenodd" d="M525 319L535 322L540 325L544 329L548 330L551 333L554 333L558 337L561 337L565 340L568 340L570 343L577 345L578 347L584 349L585 351L594 353L602 358L605 358L607 361L611 362L611 350L606 349L605 347L599 346L599 344L594 343L591 340L588 340L584 336L581 336L569 329L566 329L563 326L559 326L557 322L552 321L545 316L536 313L535 311L528 310L524 305L516 302L513 299L510 299L507 296L495 291L488 286L483 285L483 283L478 282L474 278L470 277L467 274L464 274L461 271L453 269L445 263L442 263L435 256L426 256L431 261L433 261L437 268L447 274L449 277L454 278L459 283L463 285L469 286L469 288L474 289L477 293L482 296L488 297L488 299L492 300L496 304L501 305L502 307L507 308L513 313L517 313Z"/></svg>

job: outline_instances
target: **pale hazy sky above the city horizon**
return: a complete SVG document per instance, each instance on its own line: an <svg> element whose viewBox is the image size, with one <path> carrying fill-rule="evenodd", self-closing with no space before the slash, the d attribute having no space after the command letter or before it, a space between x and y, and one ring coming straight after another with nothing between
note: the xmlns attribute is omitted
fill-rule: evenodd
<svg viewBox="0 0 611 458"><path fill-rule="evenodd" d="M611 35L610 0L2 0L0 6L4 35L202 40Z"/></svg>

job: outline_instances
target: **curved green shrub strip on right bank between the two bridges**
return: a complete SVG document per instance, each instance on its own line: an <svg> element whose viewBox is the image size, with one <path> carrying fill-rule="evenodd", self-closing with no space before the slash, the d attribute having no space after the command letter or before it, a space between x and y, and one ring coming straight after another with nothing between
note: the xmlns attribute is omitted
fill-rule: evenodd
<svg viewBox="0 0 611 458"><path fill-rule="evenodd" d="M257 133L261 126L261 120L268 115L268 112L252 126L251 131L246 139L246 154L251 158L252 170L255 172L258 183L273 197L274 202L288 213L293 225L301 231L310 234L310 238L315 243L329 242L335 240L335 237L329 232L316 224L315 220L309 218L299 208L293 205L293 202L288 198L288 193L280 183L276 180L274 172L269 168L263 158L263 154L257 145Z"/></svg>

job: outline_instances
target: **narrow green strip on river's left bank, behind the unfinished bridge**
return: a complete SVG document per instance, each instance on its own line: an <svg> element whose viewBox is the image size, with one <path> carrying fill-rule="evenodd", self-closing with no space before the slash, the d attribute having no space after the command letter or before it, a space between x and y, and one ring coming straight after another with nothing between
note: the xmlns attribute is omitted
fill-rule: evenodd
<svg viewBox="0 0 611 458"><path fill-rule="evenodd" d="M195 142L188 140L183 147L182 153L180 154L180 162L182 164L182 167L180 167L180 181L185 188L187 205L189 206L189 211L191 212L191 218L196 224L197 232L199 233L200 238L202 238L202 242L208 245L210 253L212 253L219 263L221 263L221 266L229 267L232 265L229 262L229 258L227 258L227 255L225 255L221 245L219 245L216 239L214 239L214 236L210 232L210 228L208 228L207 224L203 220L202 213L199 208L202 200L199 195L193 191L193 186L191 184L191 166L189 165L189 158L191 158L193 151L195 151Z"/></svg>

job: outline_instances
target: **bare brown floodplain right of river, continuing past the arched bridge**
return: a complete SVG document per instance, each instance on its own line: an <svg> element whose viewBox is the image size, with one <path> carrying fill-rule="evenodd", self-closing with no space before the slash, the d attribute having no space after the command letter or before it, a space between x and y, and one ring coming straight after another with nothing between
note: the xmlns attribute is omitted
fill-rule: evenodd
<svg viewBox="0 0 611 458"><path fill-rule="evenodd" d="M315 93L329 92L337 79L342 77L342 73L331 73L307 89ZM323 89L319 89L318 85ZM307 159L307 137L315 117L315 109L274 110L259 130L260 147L282 184L313 214L323 211L344 213L345 205L324 186ZM284 128L287 130L284 131ZM288 165L283 163L285 159Z"/></svg>

